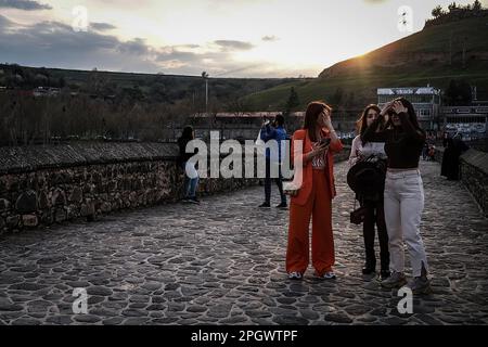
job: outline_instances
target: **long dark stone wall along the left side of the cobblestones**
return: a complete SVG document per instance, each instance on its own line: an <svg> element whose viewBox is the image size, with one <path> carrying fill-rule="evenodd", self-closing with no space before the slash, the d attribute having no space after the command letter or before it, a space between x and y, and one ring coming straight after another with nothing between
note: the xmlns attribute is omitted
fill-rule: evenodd
<svg viewBox="0 0 488 347"><path fill-rule="evenodd" d="M349 149L335 162L348 156ZM184 174L174 143L74 143L0 147L0 233L97 219L111 211L176 202ZM202 179L208 195L258 179Z"/></svg>

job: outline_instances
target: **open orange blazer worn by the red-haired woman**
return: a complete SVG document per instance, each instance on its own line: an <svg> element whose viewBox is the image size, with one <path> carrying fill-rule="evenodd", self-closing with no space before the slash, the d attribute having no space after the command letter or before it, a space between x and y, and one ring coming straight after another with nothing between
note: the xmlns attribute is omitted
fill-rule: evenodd
<svg viewBox="0 0 488 347"><path fill-rule="evenodd" d="M330 138L330 131L326 128L322 128L322 136ZM304 149L303 149L303 153L301 155L307 154L308 152L312 151L312 143L310 141L310 138L308 136L308 130L306 129L299 129L296 130L295 133L293 134L293 140L292 140L292 149L291 149L291 158L292 158L292 163L295 158L295 155L300 155L300 153L295 153L295 145L294 142L296 140L301 140L304 141ZM336 192L335 192L335 184L334 184L334 153L338 153L343 150L343 143L341 142L341 140L331 142L330 146L329 146L329 151L328 151L328 160L326 160L326 167L323 170L324 175L328 176L329 178L329 187L330 187L330 196L332 198L335 197ZM304 162L304 160L303 160ZM308 163L304 163L304 171L303 171L303 182L301 182L301 187L298 190L298 194L292 197L292 203L297 204L297 205L305 205L307 203L307 200L313 189L313 168L311 165L311 160Z"/></svg>

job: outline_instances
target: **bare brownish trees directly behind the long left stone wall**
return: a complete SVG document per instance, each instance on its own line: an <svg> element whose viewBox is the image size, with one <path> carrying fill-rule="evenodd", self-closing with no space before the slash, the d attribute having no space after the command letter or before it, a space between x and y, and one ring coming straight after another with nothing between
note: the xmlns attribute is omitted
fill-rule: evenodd
<svg viewBox="0 0 488 347"><path fill-rule="evenodd" d="M35 98L7 91L0 93L0 145L167 140L191 114L191 105L184 102L108 102L69 93Z"/></svg>

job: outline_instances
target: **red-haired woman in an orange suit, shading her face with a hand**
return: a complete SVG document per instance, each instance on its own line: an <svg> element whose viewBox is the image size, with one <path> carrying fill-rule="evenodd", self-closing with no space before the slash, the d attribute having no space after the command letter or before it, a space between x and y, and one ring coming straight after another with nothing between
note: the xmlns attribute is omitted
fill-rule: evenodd
<svg viewBox="0 0 488 347"><path fill-rule="evenodd" d="M307 106L303 129L293 134L292 160L300 156L303 171L301 187L298 193L292 196L290 206L286 272L291 280L301 280L309 264L310 217L316 277L335 279L332 269L335 261L332 198L336 194L333 153L341 152L343 144L332 126L331 113L332 108L328 104L311 102ZM301 145L297 141L301 141Z"/></svg>

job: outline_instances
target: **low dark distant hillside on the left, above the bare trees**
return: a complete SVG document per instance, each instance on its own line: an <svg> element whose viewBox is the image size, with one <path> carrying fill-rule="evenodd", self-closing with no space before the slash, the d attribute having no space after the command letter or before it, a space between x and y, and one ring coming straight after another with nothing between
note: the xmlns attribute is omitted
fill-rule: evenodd
<svg viewBox="0 0 488 347"><path fill-rule="evenodd" d="M242 95L273 88L296 79L222 78L210 76L209 102L218 107L235 104ZM30 90L37 87L64 88L92 97L114 97L149 103L177 102L204 105L205 82L201 76L77 70L0 64L0 86Z"/></svg>

